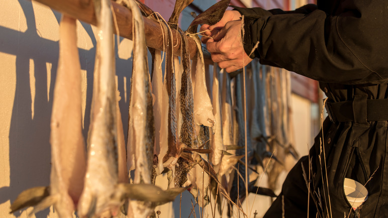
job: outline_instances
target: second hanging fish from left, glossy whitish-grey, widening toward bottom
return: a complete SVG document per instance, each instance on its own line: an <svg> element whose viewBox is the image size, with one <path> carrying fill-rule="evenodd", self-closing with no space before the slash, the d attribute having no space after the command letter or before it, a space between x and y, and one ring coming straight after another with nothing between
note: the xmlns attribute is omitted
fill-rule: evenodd
<svg viewBox="0 0 388 218"><path fill-rule="evenodd" d="M98 39L88 135L88 163L78 215L117 214L120 200L111 199L118 182L116 89L112 14L109 0L95 0Z"/></svg>

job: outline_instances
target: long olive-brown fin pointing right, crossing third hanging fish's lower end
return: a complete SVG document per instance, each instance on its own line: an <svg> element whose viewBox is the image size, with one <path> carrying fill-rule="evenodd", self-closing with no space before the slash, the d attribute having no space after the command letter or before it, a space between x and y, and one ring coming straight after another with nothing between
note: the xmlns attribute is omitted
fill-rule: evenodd
<svg viewBox="0 0 388 218"><path fill-rule="evenodd" d="M160 187L151 184L120 183L117 185L118 192L122 194L122 198L152 202L157 206L174 201L179 194L188 188L189 187L163 190Z"/></svg>

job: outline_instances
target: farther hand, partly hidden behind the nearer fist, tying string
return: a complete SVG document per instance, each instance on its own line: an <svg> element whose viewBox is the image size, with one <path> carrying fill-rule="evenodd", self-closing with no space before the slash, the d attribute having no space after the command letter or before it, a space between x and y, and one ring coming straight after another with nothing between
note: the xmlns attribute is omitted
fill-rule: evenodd
<svg viewBox="0 0 388 218"><path fill-rule="evenodd" d="M205 31L202 33L202 43L205 44L207 40L210 39L210 37L213 37L213 35L217 34L217 32L222 29L227 22L232 20L239 20L240 17L241 14L237 10L226 10L221 20L218 21L216 24L211 26L207 24L202 24L202 26L199 28L200 32Z"/></svg>

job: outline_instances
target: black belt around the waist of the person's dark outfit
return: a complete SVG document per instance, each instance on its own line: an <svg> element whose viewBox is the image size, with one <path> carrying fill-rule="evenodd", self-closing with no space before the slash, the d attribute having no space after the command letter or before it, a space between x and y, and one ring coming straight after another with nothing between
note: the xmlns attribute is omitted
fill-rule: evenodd
<svg viewBox="0 0 388 218"><path fill-rule="evenodd" d="M361 120L381 121L388 120L388 99L366 100L366 107L354 104L355 101L326 102L325 108L332 122L354 122L360 120L354 114L361 115ZM364 104L365 105L365 104ZM357 112L355 112L357 111Z"/></svg>

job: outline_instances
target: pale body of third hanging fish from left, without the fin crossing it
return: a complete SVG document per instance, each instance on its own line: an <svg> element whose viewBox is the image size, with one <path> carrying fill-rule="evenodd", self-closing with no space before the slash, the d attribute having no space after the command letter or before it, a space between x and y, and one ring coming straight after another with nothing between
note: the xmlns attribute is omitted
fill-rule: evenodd
<svg viewBox="0 0 388 218"><path fill-rule="evenodd" d="M132 35L134 42L131 99L128 131L128 149L134 151L134 184L151 184L153 172L154 115L152 107L151 81L147 64L147 49L144 33L144 20L133 0L127 1L132 11ZM129 135L129 133L128 133ZM144 218L153 213L153 203L129 200L128 216Z"/></svg>

